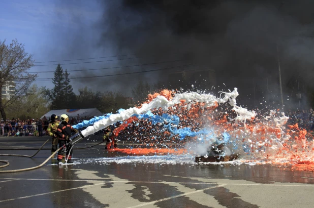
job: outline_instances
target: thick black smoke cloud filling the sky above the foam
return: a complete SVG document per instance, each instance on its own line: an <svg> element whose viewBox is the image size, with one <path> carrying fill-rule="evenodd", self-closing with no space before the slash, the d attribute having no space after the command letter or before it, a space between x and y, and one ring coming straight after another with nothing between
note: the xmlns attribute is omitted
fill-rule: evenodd
<svg viewBox="0 0 314 208"><path fill-rule="evenodd" d="M112 73L197 63L193 67L182 67L182 70L197 67L215 70L215 89L237 87L242 103L252 107L254 103L257 105L265 101L280 104L279 56L286 105L294 104L290 103L291 99L287 100L287 96L295 95L295 80L298 77L303 86L314 87L311 78L314 73L314 2L310 0L115 0L99 1L99 6L102 15L93 27L97 31L95 38L98 49L110 48L113 54L141 57L115 65L180 60L161 65L121 68ZM167 73L176 70L178 68L84 80L83 84L103 88L113 86L128 91L139 78L148 82L165 81ZM193 79L189 80L190 84L195 82ZM167 80L165 85L170 86L171 81Z"/></svg>

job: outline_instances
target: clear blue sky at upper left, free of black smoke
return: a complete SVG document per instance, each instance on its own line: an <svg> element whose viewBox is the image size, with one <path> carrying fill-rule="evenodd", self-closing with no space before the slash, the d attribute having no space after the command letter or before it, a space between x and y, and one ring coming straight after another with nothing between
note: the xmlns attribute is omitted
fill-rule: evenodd
<svg viewBox="0 0 314 208"><path fill-rule="evenodd" d="M25 50L34 55L36 62L82 59L93 57L112 56L110 49L97 49L96 29L93 23L102 14L94 1L29 0L29 1L2 1L0 13L0 39L6 39L9 44L12 39L25 45ZM90 32L88 32L90 31ZM73 41L84 36L83 43L73 49ZM71 51L69 51L71 46ZM79 52L78 52L79 51ZM83 53L85 52L85 53ZM114 58L114 57L113 57ZM112 59L112 58L111 58ZM102 59L106 60L106 59ZM90 61L90 60L87 60ZM52 63L37 63L37 65L53 64L52 66L35 66L29 71L54 71L57 63L75 63L85 61L66 61ZM97 68L98 64L73 64L62 66L68 70ZM101 65L103 66L103 65ZM38 78L52 77L53 73L39 73ZM71 72L70 76L79 76ZM39 87L52 88L51 81L36 81ZM82 83L72 81L75 93Z"/></svg>

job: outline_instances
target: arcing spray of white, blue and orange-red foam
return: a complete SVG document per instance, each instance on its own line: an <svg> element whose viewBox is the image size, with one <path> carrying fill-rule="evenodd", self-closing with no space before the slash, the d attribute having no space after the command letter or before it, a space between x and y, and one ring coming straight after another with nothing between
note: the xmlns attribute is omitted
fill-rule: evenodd
<svg viewBox="0 0 314 208"><path fill-rule="evenodd" d="M186 148L192 149L190 146L196 144L196 155L206 153L211 145L225 144L222 156L240 154L240 163L289 163L299 164L299 167L303 167L303 164L312 165L314 143L309 141L305 130L297 126L287 127L288 117L277 110L256 118L256 112L236 105L238 95L236 88L221 92L219 97L197 92L171 93L164 90L160 94L150 95L149 101L138 108L121 109L116 114L80 125L93 124L82 131L86 137L122 121L121 126L115 130L117 135L132 121L146 119L151 124L162 123L162 131L168 132L169 138L178 137L181 141L189 138ZM213 116L216 112L219 116ZM195 128L194 123L199 123L200 128ZM155 139L155 132L150 134Z"/></svg>

